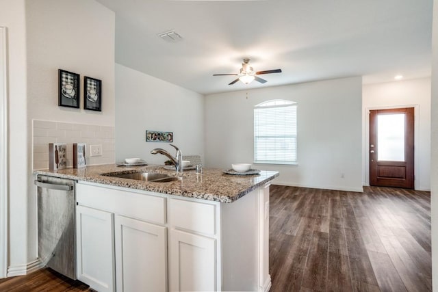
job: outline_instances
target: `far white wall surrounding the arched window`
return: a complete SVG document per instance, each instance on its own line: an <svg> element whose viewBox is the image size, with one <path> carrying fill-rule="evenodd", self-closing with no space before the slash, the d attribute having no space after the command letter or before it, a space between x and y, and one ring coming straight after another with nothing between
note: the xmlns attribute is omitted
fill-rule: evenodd
<svg viewBox="0 0 438 292"><path fill-rule="evenodd" d="M352 77L211 94L205 99L207 166L253 162L253 107L271 99L298 103L298 165L278 170L274 183L362 190L362 79ZM341 178L344 174L344 178Z"/></svg>

